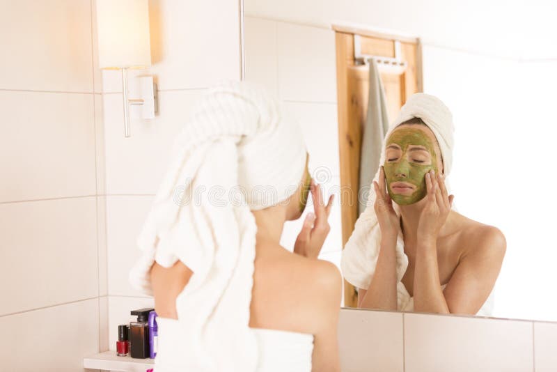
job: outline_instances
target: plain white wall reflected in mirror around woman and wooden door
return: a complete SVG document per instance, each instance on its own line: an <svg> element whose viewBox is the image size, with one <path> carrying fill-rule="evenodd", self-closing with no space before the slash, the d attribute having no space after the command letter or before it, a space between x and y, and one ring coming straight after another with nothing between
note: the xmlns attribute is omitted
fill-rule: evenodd
<svg viewBox="0 0 557 372"><path fill-rule="evenodd" d="M548 233L557 208L551 196L557 119L550 111L557 86L557 60L551 58L557 53L554 42L535 47L540 40L557 38L546 15L555 14L555 4L459 4L306 0L278 6L246 1L246 78L275 89L285 102L298 100L302 126L321 129L307 139L311 153L318 155L313 166L333 164L338 160L324 154L336 148L336 104L328 103L334 113L311 109L315 100L334 101L330 24L359 23L421 37L424 91L444 100L455 118L450 184L456 206L468 217L499 227L508 241L494 316L557 320L557 300L547 295L557 255ZM549 186L531 189L537 183ZM295 236L295 229L288 236ZM331 249L337 249L334 243Z"/></svg>

